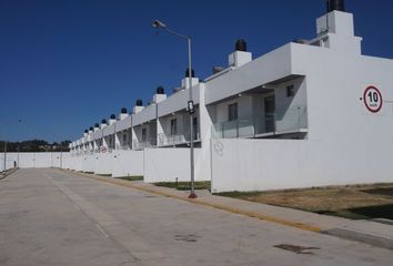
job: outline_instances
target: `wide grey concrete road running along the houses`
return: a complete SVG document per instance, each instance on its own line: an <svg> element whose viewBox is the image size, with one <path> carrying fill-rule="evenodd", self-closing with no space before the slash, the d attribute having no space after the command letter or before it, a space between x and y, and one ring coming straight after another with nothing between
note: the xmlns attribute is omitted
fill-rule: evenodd
<svg viewBox="0 0 393 266"><path fill-rule="evenodd" d="M299 246L314 249L296 253ZM20 170L0 181L4 266L385 266L392 260L392 250L57 170Z"/></svg>

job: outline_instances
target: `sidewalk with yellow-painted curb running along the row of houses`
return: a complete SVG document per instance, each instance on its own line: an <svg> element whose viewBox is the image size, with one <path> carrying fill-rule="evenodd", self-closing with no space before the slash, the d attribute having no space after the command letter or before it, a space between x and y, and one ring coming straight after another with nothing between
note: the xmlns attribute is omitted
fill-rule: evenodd
<svg viewBox="0 0 393 266"><path fill-rule="evenodd" d="M142 181L130 182L72 171L69 172L97 181L132 187L134 190L219 208L222 211L264 219L285 226L321 234L329 234L345 239L393 249L393 226L389 223L383 224L372 221L353 221L335 216L303 212L293 208L252 203L236 198L211 195L208 191L196 191L198 198L189 200L189 192L154 186L152 184L143 183Z"/></svg>

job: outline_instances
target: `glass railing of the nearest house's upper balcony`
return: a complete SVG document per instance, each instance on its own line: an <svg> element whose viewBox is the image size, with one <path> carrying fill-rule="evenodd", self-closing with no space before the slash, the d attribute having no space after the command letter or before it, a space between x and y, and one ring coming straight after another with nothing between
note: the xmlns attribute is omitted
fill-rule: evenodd
<svg viewBox="0 0 393 266"><path fill-rule="evenodd" d="M212 136L218 139L278 137L306 132L306 106L291 106L281 112L255 114L216 123L212 127Z"/></svg>

